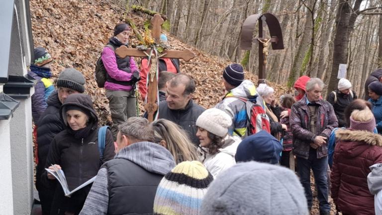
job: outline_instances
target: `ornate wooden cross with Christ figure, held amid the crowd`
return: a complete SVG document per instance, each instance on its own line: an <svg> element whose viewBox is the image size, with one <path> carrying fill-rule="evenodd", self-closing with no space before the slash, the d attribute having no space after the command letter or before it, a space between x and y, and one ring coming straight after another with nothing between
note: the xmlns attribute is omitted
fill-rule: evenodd
<svg viewBox="0 0 382 215"><path fill-rule="evenodd" d="M151 34L154 38L154 41L156 44L160 43L160 35L161 35L161 25L163 24L164 20L161 17L160 14L155 14L154 17L151 19ZM126 46L120 46L119 48L115 49L115 53L121 57L124 58L126 56L133 56L133 57L148 57L148 64L151 64L150 71L147 74L147 97L146 97L146 104L145 109L148 114L148 120L150 122L154 121L158 114L155 114L158 110L158 61L161 57L166 58L178 58L183 59L185 61L190 61L192 58L195 57L195 54L191 52L191 50L164 50L162 53L159 53L155 44L151 45L151 47L147 50L139 50L135 48L127 48Z"/></svg>

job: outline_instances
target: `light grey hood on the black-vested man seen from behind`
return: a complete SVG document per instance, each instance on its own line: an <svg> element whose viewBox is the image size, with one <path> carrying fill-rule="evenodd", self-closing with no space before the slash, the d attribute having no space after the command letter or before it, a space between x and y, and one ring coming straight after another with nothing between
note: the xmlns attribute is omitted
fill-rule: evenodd
<svg viewBox="0 0 382 215"><path fill-rule="evenodd" d="M152 142L137 142L121 149L114 158L129 160L143 169L166 175L175 167L170 151Z"/></svg>

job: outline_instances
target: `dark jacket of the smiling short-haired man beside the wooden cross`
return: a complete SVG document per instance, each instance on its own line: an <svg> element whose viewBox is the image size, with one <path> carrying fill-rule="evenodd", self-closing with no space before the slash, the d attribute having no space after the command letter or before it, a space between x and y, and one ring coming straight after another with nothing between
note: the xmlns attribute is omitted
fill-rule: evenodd
<svg viewBox="0 0 382 215"><path fill-rule="evenodd" d="M199 139L196 137L196 119L205 109L190 100L185 109L173 110L167 106L167 102L159 104L159 118L168 119L180 125L187 131L193 144L198 146Z"/></svg>

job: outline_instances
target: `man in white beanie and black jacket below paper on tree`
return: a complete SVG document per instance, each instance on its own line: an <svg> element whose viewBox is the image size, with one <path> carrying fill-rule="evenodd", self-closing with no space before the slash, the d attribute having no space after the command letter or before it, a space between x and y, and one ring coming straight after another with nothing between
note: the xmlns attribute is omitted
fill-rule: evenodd
<svg viewBox="0 0 382 215"><path fill-rule="evenodd" d="M345 108L357 98L356 92L352 90L352 83L344 78L338 82L338 90L328 94L327 101L333 106L336 113L338 127L348 127L344 118Z"/></svg>

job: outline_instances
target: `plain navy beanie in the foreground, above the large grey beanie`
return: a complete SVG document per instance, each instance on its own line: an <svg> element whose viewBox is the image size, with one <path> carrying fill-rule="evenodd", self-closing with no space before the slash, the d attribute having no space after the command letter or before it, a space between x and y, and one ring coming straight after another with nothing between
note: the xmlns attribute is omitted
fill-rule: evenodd
<svg viewBox="0 0 382 215"><path fill-rule="evenodd" d="M277 164L283 146L279 140L267 131L260 131L248 136L237 147L236 162L257 161Z"/></svg>

